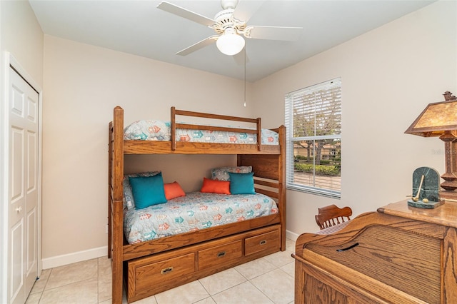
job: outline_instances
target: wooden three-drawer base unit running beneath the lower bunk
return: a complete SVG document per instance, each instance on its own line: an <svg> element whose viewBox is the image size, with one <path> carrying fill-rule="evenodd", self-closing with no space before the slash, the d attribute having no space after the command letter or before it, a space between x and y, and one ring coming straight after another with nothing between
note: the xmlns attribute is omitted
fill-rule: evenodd
<svg viewBox="0 0 457 304"><path fill-rule="evenodd" d="M273 225L129 260L129 303L274 253L280 231Z"/></svg>

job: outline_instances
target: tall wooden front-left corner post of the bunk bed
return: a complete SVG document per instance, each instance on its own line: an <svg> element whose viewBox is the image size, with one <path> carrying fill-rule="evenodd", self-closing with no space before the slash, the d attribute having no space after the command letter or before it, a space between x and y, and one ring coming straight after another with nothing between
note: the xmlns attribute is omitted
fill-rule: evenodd
<svg viewBox="0 0 457 304"><path fill-rule="evenodd" d="M112 303L122 303L122 270L123 270L123 241L124 216L122 206L122 183L124 179L124 110L120 106L114 108L112 122L112 137L110 138L110 208L109 208L109 241L112 268ZM111 142L112 141L112 142Z"/></svg>

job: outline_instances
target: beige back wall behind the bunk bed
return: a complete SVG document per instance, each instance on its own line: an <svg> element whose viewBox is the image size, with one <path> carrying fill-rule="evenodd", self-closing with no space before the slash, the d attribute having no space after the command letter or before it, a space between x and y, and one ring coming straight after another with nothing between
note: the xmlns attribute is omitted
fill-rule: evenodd
<svg viewBox="0 0 457 304"><path fill-rule="evenodd" d="M250 116L244 83L233 78L53 36L45 36L44 67L44 259L106 246L114 106L124 108L126 123L169 120L171 106ZM192 191L209 168L234 163L234 156L144 156L129 171L161 170L165 182L179 181Z"/></svg>

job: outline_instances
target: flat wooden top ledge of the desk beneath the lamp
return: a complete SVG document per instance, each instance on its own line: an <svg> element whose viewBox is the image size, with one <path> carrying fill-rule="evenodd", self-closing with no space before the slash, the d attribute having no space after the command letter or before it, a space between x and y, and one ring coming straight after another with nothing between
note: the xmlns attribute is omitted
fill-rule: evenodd
<svg viewBox="0 0 457 304"><path fill-rule="evenodd" d="M408 200L404 200L378 208L378 212L457 228L457 203L446 202L434 209L423 209L408 206Z"/></svg>

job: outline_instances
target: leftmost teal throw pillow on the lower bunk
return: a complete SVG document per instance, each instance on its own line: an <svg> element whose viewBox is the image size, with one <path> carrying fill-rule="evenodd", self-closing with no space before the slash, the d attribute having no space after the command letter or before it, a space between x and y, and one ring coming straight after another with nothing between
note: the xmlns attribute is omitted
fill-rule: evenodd
<svg viewBox="0 0 457 304"><path fill-rule="evenodd" d="M162 173L155 176L129 177L129 181L136 209L166 203Z"/></svg>

